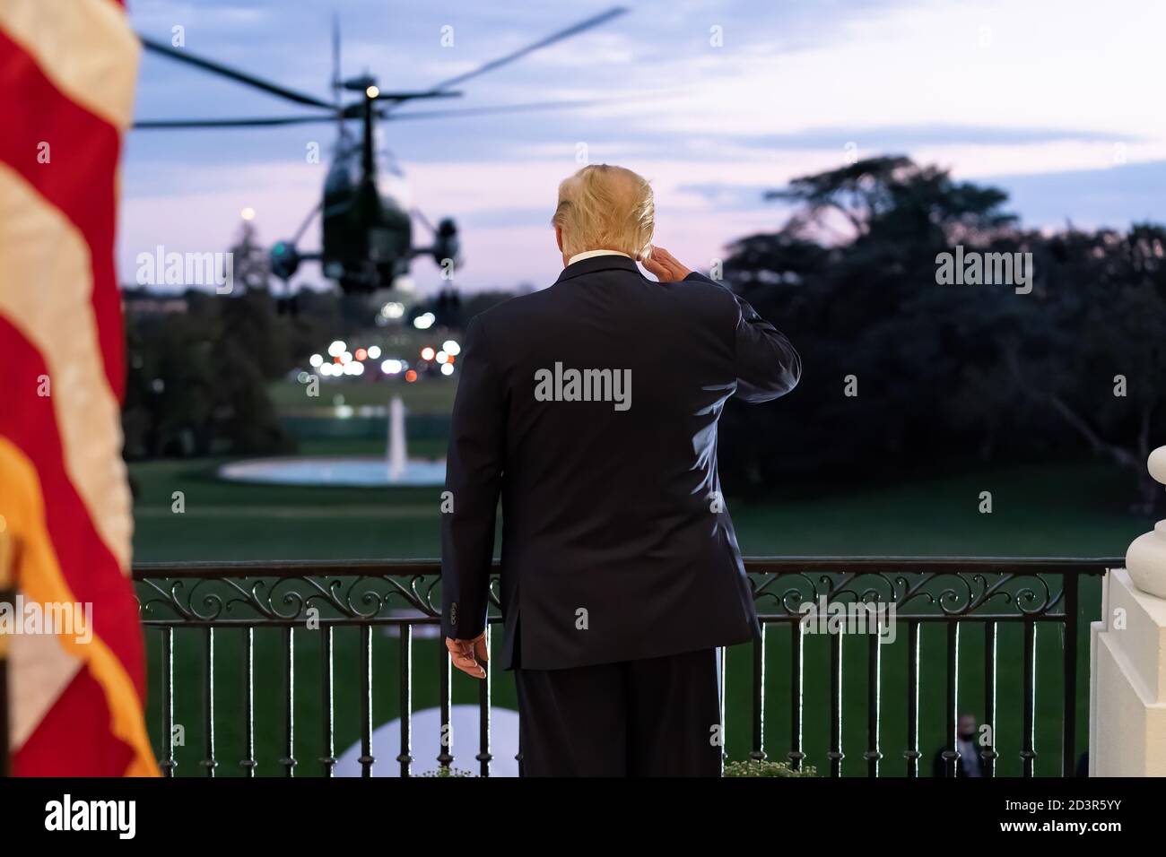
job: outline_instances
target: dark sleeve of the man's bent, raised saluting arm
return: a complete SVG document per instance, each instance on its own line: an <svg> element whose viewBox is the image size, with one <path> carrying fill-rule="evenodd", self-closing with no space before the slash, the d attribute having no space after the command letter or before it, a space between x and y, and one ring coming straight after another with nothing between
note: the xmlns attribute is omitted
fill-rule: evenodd
<svg viewBox="0 0 1166 857"><path fill-rule="evenodd" d="M740 295L695 271L686 279L703 280L724 289L737 304L735 353L737 395L747 402L767 402L785 395L801 378L801 358L785 333L761 318Z"/></svg>

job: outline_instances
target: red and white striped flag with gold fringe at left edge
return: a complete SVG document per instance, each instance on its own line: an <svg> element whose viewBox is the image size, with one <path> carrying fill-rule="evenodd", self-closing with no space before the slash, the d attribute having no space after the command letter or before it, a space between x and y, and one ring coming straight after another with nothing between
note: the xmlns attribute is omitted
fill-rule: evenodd
<svg viewBox="0 0 1166 857"><path fill-rule="evenodd" d="M17 775L157 772L113 266L139 50L120 0L0 2L0 539L28 625L8 638Z"/></svg>

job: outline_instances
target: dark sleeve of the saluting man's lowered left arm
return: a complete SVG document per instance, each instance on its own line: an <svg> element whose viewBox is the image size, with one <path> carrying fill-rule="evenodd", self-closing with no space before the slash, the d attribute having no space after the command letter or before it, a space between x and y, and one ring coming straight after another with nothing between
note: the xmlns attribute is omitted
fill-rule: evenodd
<svg viewBox="0 0 1166 857"><path fill-rule="evenodd" d="M505 459L506 402L485 329L471 319L454 400L442 513L442 633L457 640L486 626L494 521ZM449 503L452 508L449 510Z"/></svg>

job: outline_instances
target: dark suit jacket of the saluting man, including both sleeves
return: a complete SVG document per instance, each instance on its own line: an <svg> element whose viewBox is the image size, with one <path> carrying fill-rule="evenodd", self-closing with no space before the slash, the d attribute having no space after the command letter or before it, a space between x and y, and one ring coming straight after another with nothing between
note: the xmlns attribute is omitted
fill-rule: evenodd
<svg viewBox="0 0 1166 857"><path fill-rule="evenodd" d="M785 336L701 274L658 283L603 255L476 316L458 360L447 637L485 626L499 496L503 667L659 658L757 634L719 499L717 419L733 393L763 402L794 387L801 361ZM566 400L568 385L564 400L540 401L538 374L556 364L630 370L630 406Z"/></svg>

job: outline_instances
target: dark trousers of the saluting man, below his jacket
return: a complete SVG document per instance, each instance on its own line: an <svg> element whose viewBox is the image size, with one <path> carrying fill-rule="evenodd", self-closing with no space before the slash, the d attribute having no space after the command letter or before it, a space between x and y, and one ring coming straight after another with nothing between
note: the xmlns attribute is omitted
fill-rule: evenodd
<svg viewBox="0 0 1166 857"><path fill-rule="evenodd" d="M522 777L719 777L717 649L515 669Z"/></svg>

